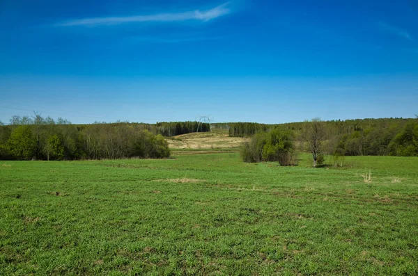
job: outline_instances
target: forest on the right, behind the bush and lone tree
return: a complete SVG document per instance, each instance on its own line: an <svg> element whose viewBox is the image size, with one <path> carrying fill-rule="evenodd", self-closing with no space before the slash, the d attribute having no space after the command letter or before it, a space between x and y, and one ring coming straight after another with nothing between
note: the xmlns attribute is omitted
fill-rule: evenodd
<svg viewBox="0 0 418 276"><path fill-rule="evenodd" d="M299 145L304 145L304 132L310 124L229 123L229 136L249 137L279 127L293 131ZM418 119L332 120L321 124L325 129L325 154L418 156Z"/></svg>

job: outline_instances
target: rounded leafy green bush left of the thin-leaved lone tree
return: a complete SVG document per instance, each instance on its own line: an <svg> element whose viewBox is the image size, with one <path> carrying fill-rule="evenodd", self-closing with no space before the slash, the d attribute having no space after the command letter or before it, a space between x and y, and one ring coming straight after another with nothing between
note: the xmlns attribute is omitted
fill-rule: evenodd
<svg viewBox="0 0 418 276"><path fill-rule="evenodd" d="M255 163L278 161L280 165L296 165L294 135L291 131L274 129L269 133L258 133L242 145L242 161Z"/></svg>

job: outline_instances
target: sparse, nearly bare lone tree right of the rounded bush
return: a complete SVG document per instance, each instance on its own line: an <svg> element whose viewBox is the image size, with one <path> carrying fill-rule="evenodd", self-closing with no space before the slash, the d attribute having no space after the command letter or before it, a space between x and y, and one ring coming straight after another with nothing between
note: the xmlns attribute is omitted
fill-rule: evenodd
<svg viewBox="0 0 418 276"><path fill-rule="evenodd" d="M325 140L325 125L319 118L314 118L307 122L304 138L309 145L309 150L314 159L314 167L318 163L318 157L323 153L323 141Z"/></svg>

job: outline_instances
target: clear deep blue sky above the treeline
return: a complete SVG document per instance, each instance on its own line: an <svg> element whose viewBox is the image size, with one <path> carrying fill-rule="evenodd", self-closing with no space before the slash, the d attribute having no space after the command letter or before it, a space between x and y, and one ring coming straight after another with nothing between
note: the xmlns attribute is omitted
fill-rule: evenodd
<svg viewBox="0 0 418 276"><path fill-rule="evenodd" d="M0 120L418 113L418 1L0 1Z"/></svg>

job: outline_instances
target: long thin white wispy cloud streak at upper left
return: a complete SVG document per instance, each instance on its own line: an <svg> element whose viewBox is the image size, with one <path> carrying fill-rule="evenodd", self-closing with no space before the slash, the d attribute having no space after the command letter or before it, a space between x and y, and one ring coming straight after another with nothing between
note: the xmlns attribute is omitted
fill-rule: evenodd
<svg viewBox="0 0 418 276"><path fill-rule="evenodd" d="M137 15L127 17L94 17L73 19L67 22L60 22L56 26L101 26L141 22L183 22L195 20L207 22L211 19L227 15L232 12L230 2L210 8L209 10L192 10L182 13L159 13L153 15Z"/></svg>

